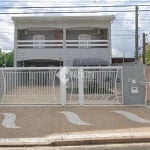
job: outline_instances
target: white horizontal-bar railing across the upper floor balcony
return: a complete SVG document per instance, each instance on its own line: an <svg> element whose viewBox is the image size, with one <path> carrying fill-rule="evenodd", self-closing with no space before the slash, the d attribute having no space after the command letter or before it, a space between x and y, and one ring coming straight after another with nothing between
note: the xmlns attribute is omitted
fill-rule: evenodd
<svg viewBox="0 0 150 150"><path fill-rule="evenodd" d="M18 40L17 48L107 48L108 40Z"/></svg>

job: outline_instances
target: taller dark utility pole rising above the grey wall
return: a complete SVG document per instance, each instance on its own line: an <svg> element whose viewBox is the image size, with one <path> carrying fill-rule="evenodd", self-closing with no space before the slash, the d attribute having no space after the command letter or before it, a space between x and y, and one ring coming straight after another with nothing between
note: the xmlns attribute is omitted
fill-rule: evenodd
<svg viewBox="0 0 150 150"><path fill-rule="evenodd" d="M135 61L136 63L138 62L138 40L139 40L139 33L138 33L138 11L139 11L139 7L138 6L135 6Z"/></svg>

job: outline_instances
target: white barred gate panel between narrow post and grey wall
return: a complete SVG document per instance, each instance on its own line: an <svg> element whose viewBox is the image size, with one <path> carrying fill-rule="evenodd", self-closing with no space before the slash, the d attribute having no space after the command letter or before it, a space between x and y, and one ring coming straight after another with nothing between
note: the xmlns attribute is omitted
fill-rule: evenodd
<svg viewBox="0 0 150 150"><path fill-rule="evenodd" d="M122 68L84 69L85 104L122 104Z"/></svg>

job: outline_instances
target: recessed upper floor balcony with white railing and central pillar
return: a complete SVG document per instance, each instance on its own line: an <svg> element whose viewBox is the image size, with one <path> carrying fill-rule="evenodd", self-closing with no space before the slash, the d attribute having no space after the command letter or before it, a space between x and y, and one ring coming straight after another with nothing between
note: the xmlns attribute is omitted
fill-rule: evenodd
<svg viewBox="0 0 150 150"><path fill-rule="evenodd" d="M17 32L17 49L108 48L108 29L21 29Z"/></svg>

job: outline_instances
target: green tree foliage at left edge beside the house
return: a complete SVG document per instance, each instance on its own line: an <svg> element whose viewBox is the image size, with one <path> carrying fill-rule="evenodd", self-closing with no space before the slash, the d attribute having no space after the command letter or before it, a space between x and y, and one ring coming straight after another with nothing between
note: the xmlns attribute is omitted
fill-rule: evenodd
<svg viewBox="0 0 150 150"><path fill-rule="evenodd" d="M0 67L13 67L14 52L2 52L0 49Z"/></svg>

